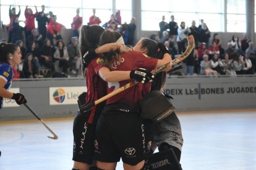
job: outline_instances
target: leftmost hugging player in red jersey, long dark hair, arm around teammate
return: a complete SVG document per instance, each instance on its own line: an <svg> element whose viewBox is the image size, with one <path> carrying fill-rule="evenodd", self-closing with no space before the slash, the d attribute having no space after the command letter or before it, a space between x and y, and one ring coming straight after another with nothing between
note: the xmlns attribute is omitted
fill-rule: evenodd
<svg viewBox="0 0 256 170"><path fill-rule="evenodd" d="M101 33L104 29L98 25L85 26L80 28L79 36L79 52L80 56L84 56L89 49L95 49L98 46ZM98 52L108 51L127 51L124 46L120 44L106 44L97 49ZM124 79L133 78L137 81L142 81L143 76L147 76L147 70L132 70L132 71L109 71L108 68L103 67L101 60L96 57L85 57L83 62L83 73L87 85L87 95L85 103L90 103L106 94L106 82L101 79L97 73L99 70L106 70L103 77L106 81L122 81ZM136 74L136 71L142 74ZM149 81L149 80L148 80ZM101 107L94 107L86 113L78 113L74 119L73 135L74 147L73 169L85 170L90 168L92 164L95 142L95 126Z"/></svg>

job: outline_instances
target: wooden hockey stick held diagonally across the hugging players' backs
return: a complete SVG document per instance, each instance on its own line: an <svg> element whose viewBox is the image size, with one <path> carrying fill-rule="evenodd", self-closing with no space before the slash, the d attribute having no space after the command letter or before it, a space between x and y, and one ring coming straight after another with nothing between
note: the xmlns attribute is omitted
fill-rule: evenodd
<svg viewBox="0 0 256 170"><path fill-rule="evenodd" d="M181 62L182 60L186 59L189 54L192 52L192 50L194 49L194 46L195 46L195 40L194 40L194 36L190 35L188 38L187 38L187 41L188 41L188 46L187 46L187 49L186 51L181 54L179 57L177 57L176 59L172 60L171 62L168 62L168 63L165 63L164 65L162 65L161 67L158 67L156 68L155 70L152 70L151 73L153 75L163 71L164 69L168 68L168 67L172 67L173 65L175 65L176 63L179 63ZM95 100L94 102L92 103L88 103L87 105L83 106L82 108L80 108L80 112L83 113L83 111L86 111L88 110L89 108L93 107L94 105L98 105L98 103L101 103L107 99L109 99L110 97L113 97L114 95L118 94L119 92L122 92L126 89L128 89L129 87L132 87L134 86L135 84L137 84L139 82L137 81L132 81L130 83L127 83L126 85L120 87L119 89L117 89L116 91L113 91L107 95L105 95L104 97L101 97L100 99L98 100Z"/></svg>

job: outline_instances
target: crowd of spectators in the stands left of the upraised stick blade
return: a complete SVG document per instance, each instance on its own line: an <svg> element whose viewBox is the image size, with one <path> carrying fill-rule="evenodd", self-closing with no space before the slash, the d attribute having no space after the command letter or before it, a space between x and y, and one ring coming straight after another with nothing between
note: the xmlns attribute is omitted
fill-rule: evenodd
<svg viewBox="0 0 256 170"><path fill-rule="evenodd" d="M96 16L96 9L92 12L87 25L100 25L101 20ZM40 12L36 6L35 12L26 6L23 14L25 21L19 20L20 6L17 14L15 7L9 7L7 42L19 44L22 54L20 65L14 68L15 78L78 76L81 59L77 52L77 40L79 28L83 24L80 10L76 10L75 17L70 21L72 38L67 46L61 35L65 26L57 22L57 16L53 12L46 13L45 6L41 6ZM20 22L24 22L25 26L20 26ZM122 23L121 11L117 10L102 26L106 30L120 31L125 44L134 45L135 18L132 18L129 24Z"/></svg>

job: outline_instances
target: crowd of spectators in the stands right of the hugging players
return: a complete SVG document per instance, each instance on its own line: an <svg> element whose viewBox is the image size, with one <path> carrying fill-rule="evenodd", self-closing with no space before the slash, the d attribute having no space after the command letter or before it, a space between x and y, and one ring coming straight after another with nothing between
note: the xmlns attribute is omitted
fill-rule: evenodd
<svg viewBox="0 0 256 170"><path fill-rule="evenodd" d="M178 56L186 51L187 37L193 35L195 47L190 56L184 61L184 75L253 75L256 71L256 48L254 42L247 38L240 39L237 34L233 34L228 42L228 47L221 47L221 40L218 33L213 34L207 24L200 20L200 25L186 26L185 22L180 25L171 16L169 23L165 22L165 17L159 23L159 33L152 34L151 39L164 42L170 53Z"/></svg>

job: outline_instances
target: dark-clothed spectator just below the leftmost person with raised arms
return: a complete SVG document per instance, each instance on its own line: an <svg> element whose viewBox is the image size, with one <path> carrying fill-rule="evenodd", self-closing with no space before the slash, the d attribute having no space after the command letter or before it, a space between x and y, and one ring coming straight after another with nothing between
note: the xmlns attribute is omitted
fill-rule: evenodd
<svg viewBox="0 0 256 170"><path fill-rule="evenodd" d="M23 31L25 31L25 29L20 26L19 24L19 18L16 17L14 19L14 23L12 23L12 28L11 28L11 34L12 34L12 37L11 37L11 42L13 44L15 44L16 41L19 41L19 40L22 40L23 41Z"/></svg>

